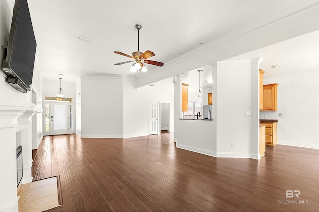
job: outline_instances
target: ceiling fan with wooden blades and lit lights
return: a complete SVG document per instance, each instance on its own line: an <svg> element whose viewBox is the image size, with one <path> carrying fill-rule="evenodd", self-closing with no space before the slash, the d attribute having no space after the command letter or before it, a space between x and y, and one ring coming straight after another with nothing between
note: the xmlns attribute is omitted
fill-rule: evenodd
<svg viewBox="0 0 319 212"><path fill-rule="evenodd" d="M135 25L135 28L138 30L138 51L133 52L132 56L130 56L128 54L124 54L122 52L118 52L118 51L114 52L116 54L120 54L120 55L129 57L129 58L132 58L134 60L125 61L125 62L121 62L121 63L116 63L114 65L122 65L122 64L125 64L125 63L135 62L132 65L131 69L130 69L130 71L132 71L132 72L135 72L135 71L146 72L147 69L146 69L144 63L151 64L151 65L156 65L156 66L163 66L164 65L164 63L162 63L162 62L157 62L157 61L153 61L153 60L146 60L147 58L153 57L155 55L153 52L147 50L147 51L142 53L142 52L139 51L139 31L140 31L141 27L142 26L139 25L139 24Z"/></svg>

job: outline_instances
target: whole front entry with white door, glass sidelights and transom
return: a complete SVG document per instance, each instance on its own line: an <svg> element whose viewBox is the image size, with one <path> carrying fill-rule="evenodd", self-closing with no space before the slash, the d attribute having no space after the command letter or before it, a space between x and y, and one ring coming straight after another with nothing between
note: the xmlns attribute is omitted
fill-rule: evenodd
<svg viewBox="0 0 319 212"><path fill-rule="evenodd" d="M45 97L43 135L75 133L72 98Z"/></svg>

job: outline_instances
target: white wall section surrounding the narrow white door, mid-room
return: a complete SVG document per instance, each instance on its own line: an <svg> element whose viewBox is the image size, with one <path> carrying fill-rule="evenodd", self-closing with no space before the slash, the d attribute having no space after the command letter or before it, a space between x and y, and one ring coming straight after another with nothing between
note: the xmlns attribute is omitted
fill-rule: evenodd
<svg viewBox="0 0 319 212"><path fill-rule="evenodd" d="M123 137L148 135L148 101L158 102L158 117L160 117L160 102L170 103L169 132L174 132L173 92L150 91L145 88L135 89L135 80L124 78ZM158 134L160 134L160 121L158 121Z"/></svg>

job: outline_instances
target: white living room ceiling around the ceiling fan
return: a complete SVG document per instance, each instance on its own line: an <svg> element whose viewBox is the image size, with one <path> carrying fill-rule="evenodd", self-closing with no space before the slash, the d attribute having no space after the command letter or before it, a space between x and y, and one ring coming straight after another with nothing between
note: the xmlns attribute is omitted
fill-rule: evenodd
<svg viewBox="0 0 319 212"><path fill-rule="evenodd" d="M132 63L115 66L137 51L153 51L151 60L167 63L229 34L245 32L317 5L318 0L28 0L43 77L132 75ZM78 36L92 42L78 40ZM280 52L287 55L287 49ZM279 52L278 52L279 53ZM285 64L266 59L269 64ZM293 58L293 56L291 56ZM299 57L298 57L299 58ZM292 60L299 62L299 59ZM266 62L265 62L266 63ZM156 66L147 65L149 72ZM269 68L267 67L267 70ZM266 71L267 71L266 70ZM133 73L135 75L135 73Z"/></svg>

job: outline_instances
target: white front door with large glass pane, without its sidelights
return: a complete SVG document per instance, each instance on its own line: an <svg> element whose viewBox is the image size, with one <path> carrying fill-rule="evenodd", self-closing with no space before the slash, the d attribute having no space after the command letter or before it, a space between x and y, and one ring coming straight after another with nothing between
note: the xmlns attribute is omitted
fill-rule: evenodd
<svg viewBox="0 0 319 212"><path fill-rule="evenodd" d="M50 103L51 135L69 133L69 103Z"/></svg>

